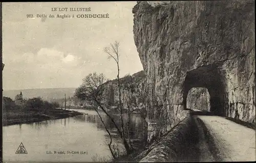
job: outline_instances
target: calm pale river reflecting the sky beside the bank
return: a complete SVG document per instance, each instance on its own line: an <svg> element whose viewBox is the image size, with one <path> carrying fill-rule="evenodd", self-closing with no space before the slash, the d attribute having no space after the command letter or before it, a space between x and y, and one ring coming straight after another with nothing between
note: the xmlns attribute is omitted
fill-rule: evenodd
<svg viewBox="0 0 256 163"><path fill-rule="evenodd" d="M89 110L73 111L88 115L4 126L3 161L92 162L99 161L99 159L109 160L111 158L107 145L109 137L97 113ZM106 126L114 128L104 113L101 114ZM118 120L118 115L115 117ZM124 117L126 121L126 116ZM117 121L117 123L120 122ZM132 115L131 129L132 139L143 137L143 121L139 115ZM114 144L121 145L120 142L119 137L114 139ZM24 145L27 154L15 154L17 149L20 149L18 148L20 143ZM60 154L54 152L60 152Z"/></svg>

